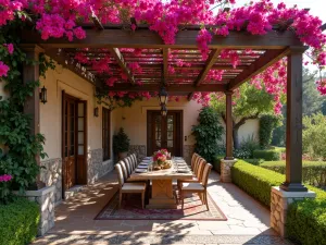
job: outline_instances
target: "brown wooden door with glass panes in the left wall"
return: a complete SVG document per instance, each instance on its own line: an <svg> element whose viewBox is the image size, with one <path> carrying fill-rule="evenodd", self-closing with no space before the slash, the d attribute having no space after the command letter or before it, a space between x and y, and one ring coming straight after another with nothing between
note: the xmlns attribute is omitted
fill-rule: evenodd
<svg viewBox="0 0 326 245"><path fill-rule="evenodd" d="M76 184L87 184L86 109L86 101L62 93L63 194Z"/></svg>

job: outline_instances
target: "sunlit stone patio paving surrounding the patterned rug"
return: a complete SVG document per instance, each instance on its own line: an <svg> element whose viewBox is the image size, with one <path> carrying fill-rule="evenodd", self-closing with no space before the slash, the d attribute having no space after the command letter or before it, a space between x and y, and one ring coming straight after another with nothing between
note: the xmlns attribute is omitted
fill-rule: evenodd
<svg viewBox="0 0 326 245"><path fill-rule="evenodd" d="M55 208L55 226L34 244L291 244L269 228L268 209L215 172L208 189L227 221L93 220L116 188L114 172L84 187Z"/></svg>

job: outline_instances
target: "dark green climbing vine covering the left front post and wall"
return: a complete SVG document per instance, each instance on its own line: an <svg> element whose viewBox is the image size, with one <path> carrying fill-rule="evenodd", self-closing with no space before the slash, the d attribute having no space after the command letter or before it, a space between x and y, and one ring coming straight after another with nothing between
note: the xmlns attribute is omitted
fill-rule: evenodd
<svg viewBox="0 0 326 245"><path fill-rule="evenodd" d="M45 76L47 69L53 69L54 64L43 53L39 61L27 59L26 53L18 47L20 39L15 35L24 25L21 20L15 20L0 29L0 44L3 44L0 45L0 60L9 66L7 75L0 79L9 95L8 98L0 96L0 175L12 176L5 187L0 183L0 203L9 201L13 189L24 192L36 187L33 185L40 171L36 156L46 157L42 147L45 136L30 134L32 117L23 111L26 99L39 86L39 81L24 84L22 71L24 64L39 63L40 75Z"/></svg>

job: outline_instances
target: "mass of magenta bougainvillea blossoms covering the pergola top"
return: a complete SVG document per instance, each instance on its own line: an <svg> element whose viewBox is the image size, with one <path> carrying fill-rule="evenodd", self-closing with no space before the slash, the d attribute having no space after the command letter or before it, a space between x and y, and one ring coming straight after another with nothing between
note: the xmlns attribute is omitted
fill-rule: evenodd
<svg viewBox="0 0 326 245"><path fill-rule="evenodd" d="M311 47L310 56L313 58L312 63L324 68L326 65L326 35L321 29L322 21L318 17L312 16L309 11L300 10L296 5L287 8L285 3L274 5L271 0L252 1L250 4L233 8L228 12L220 10L211 11L213 5L221 2L235 3L235 0L112 0L110 3L102 0L0 0L0 27L13 21L17 11L27 11L33 16L38 16L36 20L36 29L40 32L42 39L66 37L68 40L83 39L86 37L85 30L78 26L79 23L89 22L95 13L102 24L108 23L125 23L130 16L134 16L137 23L147 23L150 29L156 32L165 44L175 44L176 35L179 32L179 25L201 25L197 36L198 49L202 60L206 60L210 54L209 45L214 35L227 37L230 32L247 30L251 35L265 35L274 25L285 26L291 29L300 38L302 42ZM289 20L292 20L289 22ZM22 15L22 21L24 15ZM215 27L209 27L215 26ZM137 32L137 26L131 26L131 32ZM11 54L14 49L11 44L3 44L8 53ZM85 56L84 51L76 53L75 60L82 64L90 65L99 73L109 75L106 84L114 86L118 81L127 81L127 74L120 71L120 77L112 78L112 57L105 49L99 51L105 53L102 59L96 60ZM121 51L129 52L133 57L151 51L150 49L121 49ZM187 50L183 50L187 52ZM189 51L191 52L191 51ZM190 63L177 59L175 54L178 50L171 50L168 60L174 61L178 68L180 78L178 83L187 83L187 76L196 76L199 73L189 69ZM220 58L228 60L229 63L237 69L241 65L241 56L256 56L252 50L222 50ZM156 54L150 54L150 60L159 61L161 58ZM274 96L275 113L280 112L280 95L286 93L286 63L284 59L273 66L266 69L263 73L256 75L251 83L260 89L266 89L267 93ZM128 63L129 70L135 75L143 73L141 64L138 62ZM175 74L175 66L168 65L168 73ZM3 61L0 61L0 77L8 76L10 68ZM222 81L225 71L210 71L204 79L204 83L211 81ZM153 76L160 75L151 74ZM142 84L136 81L136 85ZM317 82L317 89L322 95L326 95L325 81ZM118 91L110 93L110 97L129 98L146 97L151 98L149 93L128 93ZM179 97L174 97L176 101ZM202 103L209 105L211 95L209 93L195 93L192 99Z"/></svg>

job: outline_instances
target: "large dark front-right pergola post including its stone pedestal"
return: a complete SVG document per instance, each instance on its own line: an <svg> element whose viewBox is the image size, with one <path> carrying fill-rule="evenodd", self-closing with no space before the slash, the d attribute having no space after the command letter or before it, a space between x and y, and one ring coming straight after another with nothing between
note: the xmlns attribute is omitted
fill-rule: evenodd
<svg viewBox="0 0 326 245"><path fill-rule="evenodd" d="M271 226L287 236L288 206L296 199L314 198L302 184L302 53L304 47L291 47L287 64L287 144L286 181L271 193Z"/></svg>

